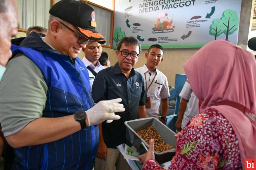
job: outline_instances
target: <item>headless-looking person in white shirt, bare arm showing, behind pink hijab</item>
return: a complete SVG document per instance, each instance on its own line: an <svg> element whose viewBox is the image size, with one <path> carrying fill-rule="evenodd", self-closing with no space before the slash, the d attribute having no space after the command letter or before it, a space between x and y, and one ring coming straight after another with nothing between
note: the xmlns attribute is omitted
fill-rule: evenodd
<svg viewBox="0 0 256 170"><path fill-rule="evenodd" d="M180 110L178 120L175 123L175 128L181 131L187 123L192 119L194 116L199 114L198 109L198 99L196 98L195 94L193 93L188 80L185 82L181 93L181 103L180 103Z"/></svg>

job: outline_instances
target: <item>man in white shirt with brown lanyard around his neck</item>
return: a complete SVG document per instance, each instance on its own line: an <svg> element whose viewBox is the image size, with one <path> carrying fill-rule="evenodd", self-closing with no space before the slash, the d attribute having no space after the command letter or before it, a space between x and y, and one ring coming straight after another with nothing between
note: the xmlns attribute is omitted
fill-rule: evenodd
<svg viewBox="0 0 256 170"><path fill-rule="evenodd" d="M148 117L159 118L159 106L161 103L161 122L166 123L166 112L168 109L168 98L170 97L168 81L166 76L157 69L163 61L164 49L161 45L152 45L145 54L147 63L135 69L144 78L148 102L146 103L146 114Z"/></svg>

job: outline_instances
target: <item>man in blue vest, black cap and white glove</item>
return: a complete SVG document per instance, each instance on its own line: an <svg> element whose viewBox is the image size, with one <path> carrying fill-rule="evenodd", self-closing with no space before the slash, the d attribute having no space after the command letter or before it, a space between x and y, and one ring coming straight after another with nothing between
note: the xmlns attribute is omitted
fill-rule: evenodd
<svg viewBox="0 0 256 170"><path fill-rule="evenodd" d="M14 147L13 169L93 169L99 123L120 119L121 99L91 98L88 71L76 57L95 31L89 5L62 0L50 9L45 37L30 34L15 49L0 83L0 122ZM38 35L38 36L37 36Z"/></svg>

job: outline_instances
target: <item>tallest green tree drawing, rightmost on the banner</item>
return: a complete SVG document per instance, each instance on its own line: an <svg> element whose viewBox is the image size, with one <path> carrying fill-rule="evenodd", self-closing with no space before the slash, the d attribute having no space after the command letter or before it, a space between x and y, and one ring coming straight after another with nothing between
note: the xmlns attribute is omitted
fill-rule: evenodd
<svg viewBox="0 0 256 170"><path fill-rule="evenodd" d="M220 18L222 24L225 26L225 30L223 33L226 35L226 39L228 41L228 35L233 34L238 29L238 15L236 11L231 9L226 9L222 13L222 17Z"/></svg>

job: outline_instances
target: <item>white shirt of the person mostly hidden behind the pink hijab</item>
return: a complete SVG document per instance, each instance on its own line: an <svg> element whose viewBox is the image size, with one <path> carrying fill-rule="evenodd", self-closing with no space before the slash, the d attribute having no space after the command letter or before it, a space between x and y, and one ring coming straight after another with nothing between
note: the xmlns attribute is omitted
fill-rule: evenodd
<svg viewBox="0 0 256 170"><path fill-rule="evenodd" d="M194 92L192 91L190 84L188 81L185 82L180 96L185 100L188 100L186 111L184 112L184 116L181 122L181 128L184 128L187 123L192 119L194 116L199 114L198 109L198 99L196 98Z"/></svg>

